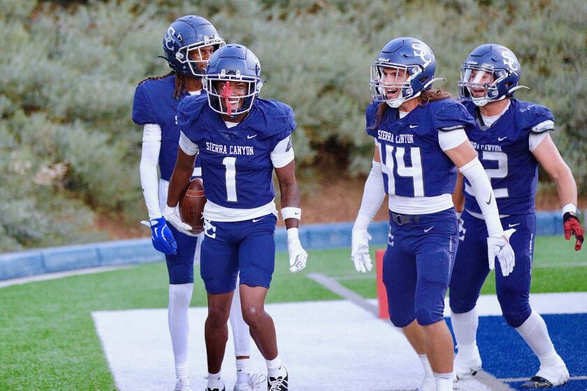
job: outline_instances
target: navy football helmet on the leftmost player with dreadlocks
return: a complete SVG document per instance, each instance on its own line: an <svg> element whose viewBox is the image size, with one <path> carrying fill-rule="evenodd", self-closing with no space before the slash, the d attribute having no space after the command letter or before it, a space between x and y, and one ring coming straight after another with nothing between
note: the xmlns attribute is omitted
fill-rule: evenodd
<svg viewBox="0 0 587 391"><path fill-rule="evenodd" d="M175 20L163 37L164 58L169 67L190 77L202 77L204 74L198 64L206 64L208 60L203 59L201 47L213 46L214 50L218 50L222 45L224 39L220 38L212 23L196 15L186 15ZM191 57L194 51L198 52L198 59Z"/></svg>

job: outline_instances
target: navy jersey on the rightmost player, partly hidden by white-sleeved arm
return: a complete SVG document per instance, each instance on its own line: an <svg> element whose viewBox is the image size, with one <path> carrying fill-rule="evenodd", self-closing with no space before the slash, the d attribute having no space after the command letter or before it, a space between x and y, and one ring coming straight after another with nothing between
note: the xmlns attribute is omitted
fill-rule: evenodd
<svg viewBox="0 0 587 391"><path fill-rule="evenodd" d="M551 110L536 103L510 99L506 112L487 128L477 106L465 102L465 107L476 120L476 126L467 135L491 179L500 214L533 213L538 162L529 150L529 138L534 126L554 120ZM552 129L540 129L548 130ZM465 209L481 213L466 178L464 188Z"/></svg>

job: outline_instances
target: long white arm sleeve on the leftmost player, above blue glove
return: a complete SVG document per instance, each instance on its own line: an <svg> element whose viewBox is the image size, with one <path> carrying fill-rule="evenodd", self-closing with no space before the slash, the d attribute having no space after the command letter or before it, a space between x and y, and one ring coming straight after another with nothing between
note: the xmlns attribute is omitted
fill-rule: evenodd
<svg viewBox="0 0 587 391"><path fill-rule="evenodd" d="M159 140L157 140L157 128L159 129ZM161 217L159 177L157 175L160 149L161 128L159 125L146 124L143 130L143 149L140 154L140 186L143 188L149 219Z"/></svg>

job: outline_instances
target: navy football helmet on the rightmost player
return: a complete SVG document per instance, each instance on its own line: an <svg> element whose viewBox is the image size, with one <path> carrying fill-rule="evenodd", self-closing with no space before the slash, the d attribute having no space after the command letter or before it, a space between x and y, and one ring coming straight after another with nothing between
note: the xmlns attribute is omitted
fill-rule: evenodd
<svg viewBox="0 0 587 391"><path fill-rule="evenodd" d="M491 101L514 96L519 86L522 68L516 55L507 47L486 43L477 46L461 65L461 78L458 80L458 92L463 101L472 101L477 106L484 106ZM479 90L474 93L473 90ZM482 96L473 96L481 94Z"/></svg>

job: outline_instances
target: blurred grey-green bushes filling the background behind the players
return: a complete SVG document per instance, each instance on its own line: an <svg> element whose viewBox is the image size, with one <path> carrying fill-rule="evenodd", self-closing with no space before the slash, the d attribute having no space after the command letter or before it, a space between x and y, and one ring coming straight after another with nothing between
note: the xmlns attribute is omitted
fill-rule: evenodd
<svg viewBox="0 0 587 391"><path fill-rule="evenodd" d="M391 38L416 36L435 51L437 75L454 94L458 66L475 46L510 47L531 87L519 98L553 110L553 137L587 190L584 1L0 0L0 7L0 28L10 31L0 36L0 251L96 239L94 212L144 218L133 91L138 80L168 71L157 58L161 36L186 14L208 17L228 42L257 54L268 80L261 95L296 112L304 177L368 170L371 61Z"/></svg>

